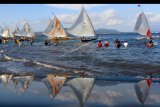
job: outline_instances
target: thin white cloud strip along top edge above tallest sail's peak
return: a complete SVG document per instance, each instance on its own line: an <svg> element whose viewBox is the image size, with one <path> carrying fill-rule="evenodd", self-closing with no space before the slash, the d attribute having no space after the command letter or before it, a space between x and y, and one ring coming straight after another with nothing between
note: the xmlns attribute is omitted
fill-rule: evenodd
<svg viewBox="0 0 160 107"><path fill-rule="evenodd" d="M68 9L68 10L80 10L82 8L82 4L45 4L48 6L52 6L60 9ZM83 4L85 8L94 8L98 6L104 6L108 4Z"/></svg>

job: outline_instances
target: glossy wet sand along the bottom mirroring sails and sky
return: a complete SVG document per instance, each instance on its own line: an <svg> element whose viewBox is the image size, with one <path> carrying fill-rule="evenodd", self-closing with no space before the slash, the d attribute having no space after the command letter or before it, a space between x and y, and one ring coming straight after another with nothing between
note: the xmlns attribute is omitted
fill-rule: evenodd
<svg viewBox="0 0 160 107"><path fill-rule="evenodd" d="M55 74L41 77L1 74L0 78L3 107L141 107L144 102L146 107L158 107L160 104L159 80L153 79L133 78L127 82L123 78L113 81Z"/></svg>

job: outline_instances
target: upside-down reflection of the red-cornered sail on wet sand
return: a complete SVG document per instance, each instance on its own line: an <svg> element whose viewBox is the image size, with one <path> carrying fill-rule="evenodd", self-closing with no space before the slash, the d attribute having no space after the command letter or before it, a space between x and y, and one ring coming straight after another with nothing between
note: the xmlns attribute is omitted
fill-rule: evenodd
<svg viewBox="0 0 160 107"><path fill-rule="evenodd" d="M138 82L137 84L135 84L136 95L138 97L138 100L142 104L144 104L144 102L146 101L146 98L147 98L149 90L150 90L150 86L151 86L150 79L142 80L142 81Z"/></svg>

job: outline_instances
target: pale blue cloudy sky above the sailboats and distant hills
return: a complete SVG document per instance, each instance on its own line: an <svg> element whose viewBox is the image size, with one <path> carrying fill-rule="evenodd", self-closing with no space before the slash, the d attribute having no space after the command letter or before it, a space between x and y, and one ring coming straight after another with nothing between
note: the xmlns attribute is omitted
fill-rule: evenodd
<svg viewBox="0 0 160 107"><path fill-rule="evenodd" d="M134 32L137 16L142 9L152 32L160 32L160 4L83 4L95 29ZM63 27L71 27L82 4L0 4L0 26L20 29L27 21L33 31L44 31L54 13Z"/></svg>

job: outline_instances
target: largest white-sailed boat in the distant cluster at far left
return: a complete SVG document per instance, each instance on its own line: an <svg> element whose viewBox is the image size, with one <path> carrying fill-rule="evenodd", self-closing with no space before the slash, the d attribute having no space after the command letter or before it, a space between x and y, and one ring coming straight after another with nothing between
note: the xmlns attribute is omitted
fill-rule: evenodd
<svg viewBox="0 0 160 107"><path fill-rule="evenodd" d="M31 26L27 22L24 24L20 34L21 36L24 36L26 38L31 38L31 39L35 38L35 33L33 32Z"/></svg>

